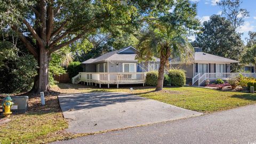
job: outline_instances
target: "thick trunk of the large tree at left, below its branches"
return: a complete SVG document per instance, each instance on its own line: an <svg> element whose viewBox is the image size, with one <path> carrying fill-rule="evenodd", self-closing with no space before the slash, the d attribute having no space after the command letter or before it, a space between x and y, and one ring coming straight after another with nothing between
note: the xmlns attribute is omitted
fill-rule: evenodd
<svg viewBox="0 0 256 144"><path fill-rule="evenodd" d="M34 86L31 91L34 93L39 92L50 92L49 85L49 62L50 62L50 52L46 50L44 47L40 47L39 49L39 59L37 70L37 76L34 79Z"/></svg>

